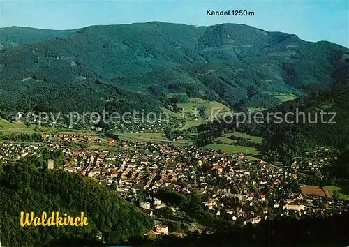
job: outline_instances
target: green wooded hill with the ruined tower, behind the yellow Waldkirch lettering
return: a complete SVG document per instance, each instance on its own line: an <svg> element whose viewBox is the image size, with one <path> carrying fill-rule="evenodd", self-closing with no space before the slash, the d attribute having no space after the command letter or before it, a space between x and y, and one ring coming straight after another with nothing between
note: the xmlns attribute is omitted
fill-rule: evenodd
<svg viewBox="0 0 349 247"><path fill-rule="evenodd" d="M113 190L63 170L46 170L47 158L64 156L43 151L39 157L8 165L0 162L0 232L6 246L48 246L59 239L128 241L151 229L153 220ZM20 227L20 212L36 216L59 211L61 216L87 216L84 227Z"/></svg>

